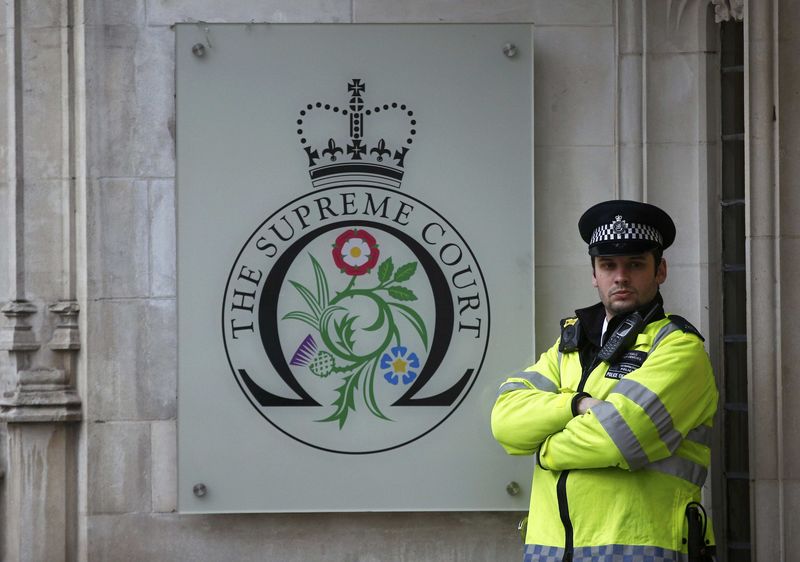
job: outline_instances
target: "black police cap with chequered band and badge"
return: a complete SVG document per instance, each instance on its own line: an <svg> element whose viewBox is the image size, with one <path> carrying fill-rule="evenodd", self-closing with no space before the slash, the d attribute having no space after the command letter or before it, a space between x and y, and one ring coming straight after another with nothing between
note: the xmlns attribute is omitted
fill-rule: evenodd
<svg viewBox="0 0 800 562"><path fill-rule="evenodd" d="M616 199L591 207L578 221L590 256L625 256L668 248L675 240L670 216L648 203Z"/></svg>

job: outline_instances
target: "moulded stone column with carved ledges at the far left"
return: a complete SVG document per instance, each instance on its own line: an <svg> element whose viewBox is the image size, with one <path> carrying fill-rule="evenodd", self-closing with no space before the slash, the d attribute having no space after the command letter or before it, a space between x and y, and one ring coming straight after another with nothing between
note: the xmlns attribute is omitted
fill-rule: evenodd
<svg viewBox="0 0 800 562"><path fill-rule="evenodd" d="M80 3L0 7L0 531L9 562L72 560L77 551L72 15Z"/></svg>

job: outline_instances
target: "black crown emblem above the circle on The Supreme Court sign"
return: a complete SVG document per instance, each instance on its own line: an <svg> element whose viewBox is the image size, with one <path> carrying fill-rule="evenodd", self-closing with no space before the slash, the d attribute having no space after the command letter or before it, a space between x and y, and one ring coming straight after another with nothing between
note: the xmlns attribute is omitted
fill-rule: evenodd
<svg viewBox="0 0 800 562"><path fill-rule="evenodd" d="M318 101L300 110L297 135L315 188L400 187L405 158L417 133L414 112L399 102L368 107L365 89L363 80L352 79L347 84L350 100L346 106ZM341 139L344 119L350 135Z"/></svg>

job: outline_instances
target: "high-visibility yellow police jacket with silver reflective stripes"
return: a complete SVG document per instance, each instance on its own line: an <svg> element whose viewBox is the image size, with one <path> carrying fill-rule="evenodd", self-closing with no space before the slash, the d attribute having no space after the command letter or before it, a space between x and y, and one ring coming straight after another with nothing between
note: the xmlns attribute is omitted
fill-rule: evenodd
<svg viewBox="0 0 800 562"><path fill-rule="evenodd" d="M562 334L583 323L580 349L559 351L559 339L506 380L492 411L509 454L537 455L525 561L685 560L685 510L700 501L717 408L702 338L659 309L622 359L584 372L604 311L576 313ZM576 415L579 390L604 402Z"/></svg>

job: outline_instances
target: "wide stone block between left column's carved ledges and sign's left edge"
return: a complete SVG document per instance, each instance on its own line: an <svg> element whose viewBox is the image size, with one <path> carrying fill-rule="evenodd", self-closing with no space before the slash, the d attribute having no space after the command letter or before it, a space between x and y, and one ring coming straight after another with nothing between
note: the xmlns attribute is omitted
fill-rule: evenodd
<svg viewBox="0 0 800 562"><path fill-rule="evenodd" d="M176 413L175 301L88 305L90 420L172 419Z"/></svg>

